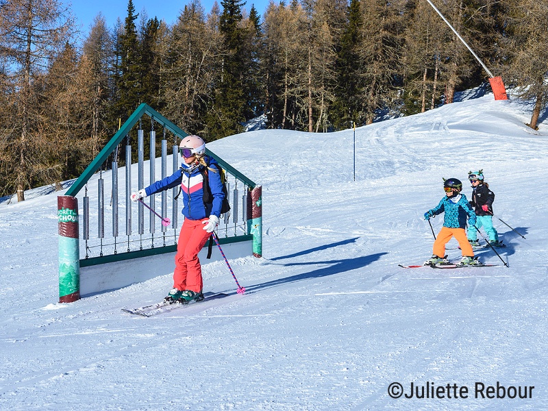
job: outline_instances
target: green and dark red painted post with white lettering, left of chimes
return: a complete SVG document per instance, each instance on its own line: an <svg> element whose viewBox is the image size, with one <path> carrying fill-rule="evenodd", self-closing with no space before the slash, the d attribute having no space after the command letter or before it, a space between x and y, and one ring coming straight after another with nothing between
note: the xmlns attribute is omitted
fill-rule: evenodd
<svg viewBox="0 0 548 411"><path fill-rule="evenodd" d="M59 225L59 302L80 299L80 252L78 199L70 195L57 197Z"/></svg>

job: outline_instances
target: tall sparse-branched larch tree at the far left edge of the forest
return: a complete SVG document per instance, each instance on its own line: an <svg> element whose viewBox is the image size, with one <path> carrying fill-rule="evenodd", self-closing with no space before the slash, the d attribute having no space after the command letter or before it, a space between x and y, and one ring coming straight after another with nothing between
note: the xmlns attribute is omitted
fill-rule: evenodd
<svg viewBox="0 0 548 411"><path fill-rule="evenodd" d="M12 84L12 127L3 138L10 141L12 183L18 201L32 184L42 155L40 88L34 83L45 73L51 59L71 40L73 17L57 0L5 0L0 7L0 58L6 80ZM31 144L32 141L32 144Z"/></svg>

